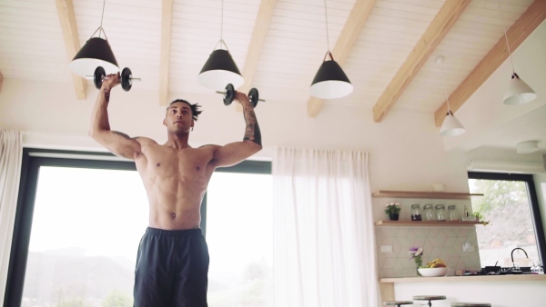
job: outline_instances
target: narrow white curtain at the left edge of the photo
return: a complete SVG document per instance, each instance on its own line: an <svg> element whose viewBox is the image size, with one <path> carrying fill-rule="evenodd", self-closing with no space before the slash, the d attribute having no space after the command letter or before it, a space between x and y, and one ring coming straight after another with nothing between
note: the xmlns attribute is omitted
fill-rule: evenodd
<svg viewBox="0 0 546 307"><path fill-rule="evenodd" d="M22 157L23 134L0 131L0 303L4 302Z"/></svg>

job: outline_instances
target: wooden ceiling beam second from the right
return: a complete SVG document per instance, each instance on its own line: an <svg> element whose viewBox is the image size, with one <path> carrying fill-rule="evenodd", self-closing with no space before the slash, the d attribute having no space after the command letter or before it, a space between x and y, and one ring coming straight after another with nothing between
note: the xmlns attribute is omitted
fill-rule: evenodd
<svg viewBox="0 0 546 307"><path fill-rule="evenodd" d="M427 62L430 54L440 45L441 40L450 32L450 29L462 12L470 4L470 0L447 0L434 17L425 33L413 47L408 58L399 68L399 71L390 81L387 88L379 96L373 106L373 120L379 123L406 90L420 68Z"/></svg>

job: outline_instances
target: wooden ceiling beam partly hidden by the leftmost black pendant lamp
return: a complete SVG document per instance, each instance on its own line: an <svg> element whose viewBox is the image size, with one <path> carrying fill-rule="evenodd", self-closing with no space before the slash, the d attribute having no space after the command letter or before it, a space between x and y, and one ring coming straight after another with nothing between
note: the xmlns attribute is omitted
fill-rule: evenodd
<svg viewBox="0 0 546 307"><path fill-rule="evenodd" d="M68 62L71 62L80 50L79 35L77 34L76 15L74 14L74 5L72 0L56 0L57 14L65 39L66 56ZM76 90L76 98L85 100L87 95L87 80L74 73L74 88Z"/></svg>

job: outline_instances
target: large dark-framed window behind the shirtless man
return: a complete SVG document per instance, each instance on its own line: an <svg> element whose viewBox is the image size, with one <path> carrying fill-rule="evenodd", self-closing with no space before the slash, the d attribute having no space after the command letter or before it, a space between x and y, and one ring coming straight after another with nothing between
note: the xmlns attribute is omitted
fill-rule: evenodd
<svg viewBox="0 0 546 307"><path fill-rule="evenodd" d="M81 157L25 150L5 306L132 306L146 191L134 163ZM270 163L218 171L202 206L208 305L271 305Z"/></svg>

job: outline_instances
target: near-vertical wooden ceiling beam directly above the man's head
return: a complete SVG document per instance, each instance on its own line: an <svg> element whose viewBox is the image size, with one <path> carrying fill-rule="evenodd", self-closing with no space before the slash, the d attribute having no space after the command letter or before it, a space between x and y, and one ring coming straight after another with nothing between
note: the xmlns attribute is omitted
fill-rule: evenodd
<svg viewBox="0 0 546 307"><path fill-rule="evenodd" d="M161 51L159 59L159 105L167 105L168 68L173 25L173 0L163 0L161 5Z"/></svg>

